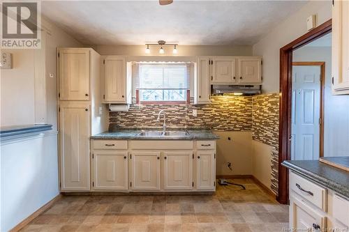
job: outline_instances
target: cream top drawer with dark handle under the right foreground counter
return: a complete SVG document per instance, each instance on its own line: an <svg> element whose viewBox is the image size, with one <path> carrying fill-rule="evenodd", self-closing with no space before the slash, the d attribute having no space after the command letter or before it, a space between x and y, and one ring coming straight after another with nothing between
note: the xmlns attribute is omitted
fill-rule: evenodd
<svg viewBox="0 0 349 232"><path fill-rule="evenodd" d="M327 212L327 190L290 172L290 190Z"/></svg>

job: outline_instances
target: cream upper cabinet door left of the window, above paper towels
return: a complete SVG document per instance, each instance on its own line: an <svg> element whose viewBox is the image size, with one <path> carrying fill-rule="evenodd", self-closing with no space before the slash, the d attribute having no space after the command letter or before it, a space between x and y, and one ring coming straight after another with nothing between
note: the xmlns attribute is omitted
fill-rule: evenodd
<svg viewBox="0 0 349 232"><path fill-rule="evenodd" d="M126 59L124 57L105 58L104 86L106 102L126 103Z"/></svg>

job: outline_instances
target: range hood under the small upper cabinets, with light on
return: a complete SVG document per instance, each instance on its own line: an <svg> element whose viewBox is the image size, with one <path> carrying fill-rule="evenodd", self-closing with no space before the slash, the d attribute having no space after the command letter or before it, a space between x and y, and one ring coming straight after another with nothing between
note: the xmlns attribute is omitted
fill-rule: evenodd
<svg viewBox="0 0 349 232"><path fill-rule="evenodd" d="M224 93L232 93L234 95L255 95L260 94L260 85L230 85L230 84L214 84L211 88L212 95L223 95Z"/></svg>

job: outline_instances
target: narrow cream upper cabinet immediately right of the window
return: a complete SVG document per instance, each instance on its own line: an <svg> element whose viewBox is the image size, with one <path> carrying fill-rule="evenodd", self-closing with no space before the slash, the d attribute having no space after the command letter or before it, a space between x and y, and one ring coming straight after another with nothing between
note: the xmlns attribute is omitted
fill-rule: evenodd
<svg viewBox="0 0 349 232"><path fill-rule="evenodd" d="M199 57L194 78L194 104L209 104L209 58Z"/></svg>

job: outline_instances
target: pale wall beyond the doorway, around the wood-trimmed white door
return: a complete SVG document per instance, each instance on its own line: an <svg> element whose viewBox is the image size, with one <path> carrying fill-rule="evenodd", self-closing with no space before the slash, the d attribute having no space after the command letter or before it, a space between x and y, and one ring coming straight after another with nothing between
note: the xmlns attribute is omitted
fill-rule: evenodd
<svg viewBox="0 0 349 232"><path fill-rule="evenodd" d="M349 156L349 95L332 95L331 47L301 47L293 61L325 61L324 156Z"/></svg>

